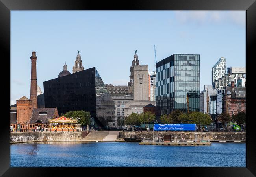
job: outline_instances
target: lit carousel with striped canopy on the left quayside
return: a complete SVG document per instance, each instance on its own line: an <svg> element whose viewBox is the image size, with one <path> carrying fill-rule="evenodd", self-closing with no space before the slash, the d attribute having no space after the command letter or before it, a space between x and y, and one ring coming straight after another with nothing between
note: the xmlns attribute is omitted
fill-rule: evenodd
<svg viewBox="0 0 256 177"><path fill-rule="evenodd" d="M80 125L77 119L71 119L67 117L59 117L48 120L50 124L50 131L78 131Z"/></svg>

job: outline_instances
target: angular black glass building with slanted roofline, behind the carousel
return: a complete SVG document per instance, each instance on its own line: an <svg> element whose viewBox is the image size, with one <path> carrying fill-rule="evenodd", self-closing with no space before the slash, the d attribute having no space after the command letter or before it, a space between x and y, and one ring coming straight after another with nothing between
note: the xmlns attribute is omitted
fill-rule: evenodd
<svg viewBox="0 0 256 177"><path fill-rule="evenodd" d="M46 108L57 107L58 113L89 111L95 127L113 121L115 104L96 68L89 68L44 82Z"/></svg>

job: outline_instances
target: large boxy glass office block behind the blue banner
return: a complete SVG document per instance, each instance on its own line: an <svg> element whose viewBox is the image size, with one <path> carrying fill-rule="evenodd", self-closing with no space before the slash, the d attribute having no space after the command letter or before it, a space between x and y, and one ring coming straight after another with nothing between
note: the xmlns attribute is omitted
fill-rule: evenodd
<svg viewBox="0 0 256 177"><path fill-rule="evenodd" d="M200 55L174 54L156 63L156 107L161 114L175 109L200 111Z"/></svg>

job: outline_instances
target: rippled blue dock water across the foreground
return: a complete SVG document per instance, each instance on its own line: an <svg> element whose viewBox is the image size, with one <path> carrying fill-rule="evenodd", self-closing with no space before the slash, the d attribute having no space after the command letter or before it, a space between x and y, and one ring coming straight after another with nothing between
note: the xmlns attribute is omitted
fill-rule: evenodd
<svg viewBox="0 0 256 177"><path fill-rule="evenodd" d="M138 142L33 142L10 145L11 167L245 167L245 143L210 146Z"/></svg>

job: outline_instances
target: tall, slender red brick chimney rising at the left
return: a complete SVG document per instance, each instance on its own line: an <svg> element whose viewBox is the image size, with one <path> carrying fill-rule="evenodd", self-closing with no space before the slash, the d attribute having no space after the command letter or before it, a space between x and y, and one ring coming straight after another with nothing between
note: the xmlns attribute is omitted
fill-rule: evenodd
<svg viewBox="0 0 256 177"><path fill-rule="evenodd" d="M31 59L31 82L30 82L30 100L32 100L32 110L37 108L37 56L32 52Z"/></svg>

